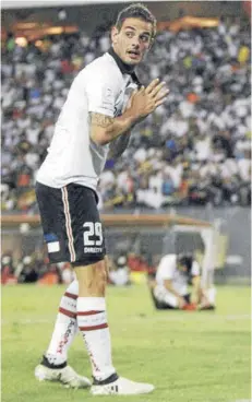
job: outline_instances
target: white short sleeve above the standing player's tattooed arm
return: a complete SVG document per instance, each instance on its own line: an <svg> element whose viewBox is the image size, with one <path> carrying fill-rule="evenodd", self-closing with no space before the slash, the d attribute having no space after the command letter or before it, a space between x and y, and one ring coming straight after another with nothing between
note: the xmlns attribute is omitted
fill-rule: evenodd
<svg viewBox="0 0 252 402"><path fill-rule="evenodd" d="M112 74L91 75L86 80L86 95L88 111L115 116L115 105L117 99L117 80Z"/></svg>

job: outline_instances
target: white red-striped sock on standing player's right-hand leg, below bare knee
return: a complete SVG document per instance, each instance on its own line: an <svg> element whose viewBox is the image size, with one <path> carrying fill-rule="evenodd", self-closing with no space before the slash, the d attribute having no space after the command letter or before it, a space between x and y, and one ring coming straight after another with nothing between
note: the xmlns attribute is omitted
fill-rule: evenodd
<svg viewBox="0 0 252 402"><path fill-rule="evenodd" d="M105 298L79 297L77 324L89 355L93 376L103 381L116 373L112 366Z"/></svg>

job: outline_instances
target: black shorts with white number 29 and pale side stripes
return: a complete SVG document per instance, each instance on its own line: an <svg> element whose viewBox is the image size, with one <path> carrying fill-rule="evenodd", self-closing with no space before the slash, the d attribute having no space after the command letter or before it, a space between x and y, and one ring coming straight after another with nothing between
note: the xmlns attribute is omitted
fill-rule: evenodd
<svg viewBox="0 0 252 402"><path fill-rule="evenodd" d="M57 189L36 182L36 196L50 263L69 261L77 267L104 259L95 191L75 184Z"/></svg>

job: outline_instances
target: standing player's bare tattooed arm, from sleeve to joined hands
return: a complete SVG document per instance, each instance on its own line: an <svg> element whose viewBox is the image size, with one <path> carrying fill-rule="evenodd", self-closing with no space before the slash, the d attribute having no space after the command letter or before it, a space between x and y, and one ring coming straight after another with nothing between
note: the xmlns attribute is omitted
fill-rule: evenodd
<svg viewBox="0 0 252 402"><path fill-rule="evenodd" d="M159 80L154 80L146 88L136 91L130 108L119 117L91 113L92 140L98 145L106 145L122 134L129 134L134 125L165 102L169 91L161 91L164 85Z"/></svg>

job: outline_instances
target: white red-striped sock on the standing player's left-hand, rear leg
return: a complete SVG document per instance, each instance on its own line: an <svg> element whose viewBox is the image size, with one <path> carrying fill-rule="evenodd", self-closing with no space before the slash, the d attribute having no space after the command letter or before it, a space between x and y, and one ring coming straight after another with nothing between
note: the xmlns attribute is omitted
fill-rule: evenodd
<svg viewBox="0 0 252 402"><path fill-rule="evenodd" d="M55 323L46 357L50 364L60 365L68 359L68 351L77 333L76 303L79 282L73 281L67 288L60 302L59 312Z"/></svg>

